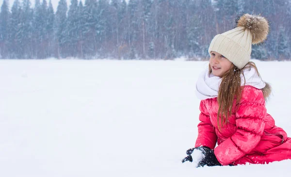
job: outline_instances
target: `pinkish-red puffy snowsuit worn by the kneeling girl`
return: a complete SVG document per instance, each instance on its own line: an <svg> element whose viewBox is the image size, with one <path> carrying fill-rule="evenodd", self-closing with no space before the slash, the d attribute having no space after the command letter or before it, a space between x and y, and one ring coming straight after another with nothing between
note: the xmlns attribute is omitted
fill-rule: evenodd
<svg viewBox="0 0 291 177"><path fill-rule="evenodd" d="M273 117L266 113L261 90L245 86L239 109L235 111L235 100L233 107L227 124L219 130L217 97L201 101L201 122L195 147L203 145L214 149L222 165L264 164L291 159L291 138L276 127Z"/></svg>

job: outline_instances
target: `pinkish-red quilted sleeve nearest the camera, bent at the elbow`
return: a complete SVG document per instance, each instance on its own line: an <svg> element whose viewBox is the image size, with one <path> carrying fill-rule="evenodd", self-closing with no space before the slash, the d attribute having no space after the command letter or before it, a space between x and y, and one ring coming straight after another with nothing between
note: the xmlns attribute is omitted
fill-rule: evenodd
<svg viewBox="0 0 291 177"><path fill-rule="evenodd" d="M237 131L214 149L217 160L228 165L251 152L261 139L266 116L262 91L245 86L242 91L239 110L236 112Z"/></svg>

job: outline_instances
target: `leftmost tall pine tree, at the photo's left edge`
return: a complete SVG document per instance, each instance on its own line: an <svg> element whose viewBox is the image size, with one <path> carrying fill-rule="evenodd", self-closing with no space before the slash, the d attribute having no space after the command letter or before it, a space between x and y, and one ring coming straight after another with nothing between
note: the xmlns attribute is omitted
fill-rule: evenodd
<svg viewBox="0 0 291 177"><path fill-rule="evenodd" d="M9 17L8 5L6 0L4 0L0 12L0 58L6 58L8 55Z"/></svg>

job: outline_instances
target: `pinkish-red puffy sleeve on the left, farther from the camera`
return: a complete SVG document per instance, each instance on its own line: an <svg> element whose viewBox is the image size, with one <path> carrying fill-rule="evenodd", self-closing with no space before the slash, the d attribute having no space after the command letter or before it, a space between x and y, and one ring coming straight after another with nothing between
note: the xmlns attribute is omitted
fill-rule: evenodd
<svg viewBox="0 0 291 177"><path fill-rule="evenodd" d="M210 149L214 149L217 141L217 136L215 133L215 129L210 121L209 113L205 108L203 102L200 102L199 107L201 113L199 115L199 120L201 121L198 124L198 137L196 139L195 147L198 146L207 146Z"/></svg>

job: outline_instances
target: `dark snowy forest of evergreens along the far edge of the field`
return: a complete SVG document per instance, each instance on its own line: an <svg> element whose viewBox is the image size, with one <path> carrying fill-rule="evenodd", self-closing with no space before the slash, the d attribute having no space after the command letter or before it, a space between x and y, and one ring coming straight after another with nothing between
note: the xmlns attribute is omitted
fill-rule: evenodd
<svg viewBox="0 0 291 177"><path fill-rule="evenodd" d="M0 12L0 58L165 59L208 57L211 39L244 13L270 21L259 60L291 59L289 0L6 0Z"/></svg>

